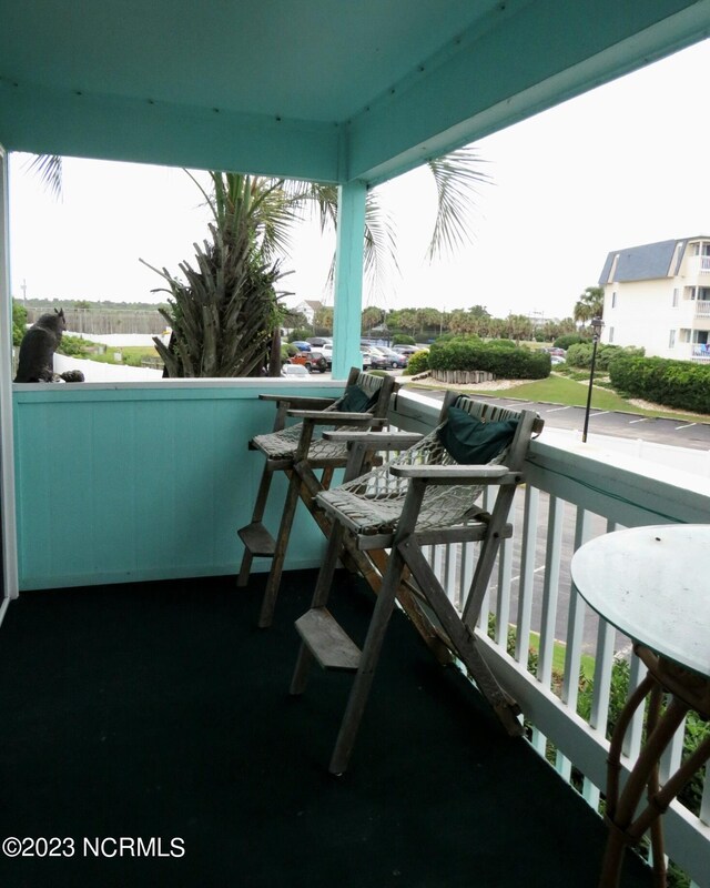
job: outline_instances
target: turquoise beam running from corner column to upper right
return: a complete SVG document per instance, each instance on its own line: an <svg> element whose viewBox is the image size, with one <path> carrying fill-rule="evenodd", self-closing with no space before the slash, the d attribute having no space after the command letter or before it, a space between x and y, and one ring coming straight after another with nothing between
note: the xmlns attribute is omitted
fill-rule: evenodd
<svg viewBox="0 0 710 888"><path fill-rule="evenodd" d="M347 175L398 175L709 33L710 0L500 3L349 122Z"/></svg>

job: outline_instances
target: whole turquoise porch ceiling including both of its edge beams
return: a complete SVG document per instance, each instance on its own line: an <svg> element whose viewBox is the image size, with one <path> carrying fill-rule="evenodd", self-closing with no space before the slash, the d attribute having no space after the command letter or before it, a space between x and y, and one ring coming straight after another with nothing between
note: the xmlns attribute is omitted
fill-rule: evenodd
<svg viewBox="0 0 710 888"><path fill-rule="evenodd" d="M710 0L0 0L0 143L374 182L709 29Z"/></svg>

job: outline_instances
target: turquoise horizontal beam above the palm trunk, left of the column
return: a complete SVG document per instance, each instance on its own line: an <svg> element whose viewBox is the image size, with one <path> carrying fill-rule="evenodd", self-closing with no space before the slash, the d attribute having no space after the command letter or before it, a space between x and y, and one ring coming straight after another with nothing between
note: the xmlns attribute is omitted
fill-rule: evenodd
<svg viewBox="0 0 710 888"><path fill-rule="evenodd" d="M225 109L53 91L0 78L9 151L337 182L343 128Z"/></svg>

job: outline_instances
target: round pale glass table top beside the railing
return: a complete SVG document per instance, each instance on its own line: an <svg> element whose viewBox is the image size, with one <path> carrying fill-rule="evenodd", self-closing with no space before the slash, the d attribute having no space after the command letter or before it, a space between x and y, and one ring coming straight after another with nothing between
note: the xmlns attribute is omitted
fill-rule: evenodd
<svg viewBox="0 0 710 888"><path fill-rule="evenodd" d="M710 676L710 525L598 536L577 549L571 575L582 598L612 626Z"/></svg>

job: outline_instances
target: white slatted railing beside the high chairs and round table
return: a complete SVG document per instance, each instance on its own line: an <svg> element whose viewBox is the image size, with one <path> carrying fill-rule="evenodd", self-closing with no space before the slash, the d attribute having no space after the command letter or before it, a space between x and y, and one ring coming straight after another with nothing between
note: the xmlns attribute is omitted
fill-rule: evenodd
<svg viewBox="0 0 710 888"><path fill-rule="evenodd" d="M434 405L427 411L423 403L415 405L405 396L393 418L404 427L420 430L427 418L433 423L436 411ZM585 454L579 450L569 452L532 442L528 483L511 515L515 533L505 541L498 557L479 636L486 657L521 705L532 746L548 758L551 753L557 770L570 783L574 773L584 797L599 809L606 783L606 726L615 658L630 662L631 689L642 679L645 667L631 654L630 639L592 614L574 588L571 555L591 537L625 526L707 523L710 484L692 476L669 481L673 473L661 466L648 464L645 471L635 468L630 457L597 452L592 458L594 447ZM457 605L468 588L475 554L475 544L468 544L436 547L428 555ZM511 654L510 627L515 627ZM531 632L536 666L529 665ZM587 719L577 712L582 657L588 666L594 665ZM560 660L561 667L556 665ZM641 719L639 714L625 749L627 771L641 743ZM662 763L665 774L678 764L681 753L682 730ZM667 851L698 888L710 886L708 784L700 816L680 803L673 803L665 815Z"/></svg>

